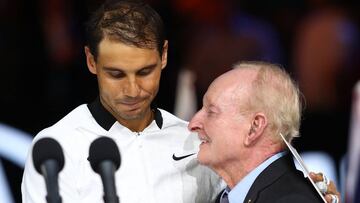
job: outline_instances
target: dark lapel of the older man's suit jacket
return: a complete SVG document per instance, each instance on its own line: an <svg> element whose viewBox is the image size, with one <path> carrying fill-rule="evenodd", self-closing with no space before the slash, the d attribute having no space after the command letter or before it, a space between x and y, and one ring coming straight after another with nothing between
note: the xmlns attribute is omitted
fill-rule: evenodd
<svg viewBox="0 0 360 203"><path fill-rule="evenodd" d="M250 187L244 202L255 202L262 190L270 186L273 182L279 179L288 170L293 170L295 167L292 157L287 153L271 163L260 175L255 179Z"/></svg>

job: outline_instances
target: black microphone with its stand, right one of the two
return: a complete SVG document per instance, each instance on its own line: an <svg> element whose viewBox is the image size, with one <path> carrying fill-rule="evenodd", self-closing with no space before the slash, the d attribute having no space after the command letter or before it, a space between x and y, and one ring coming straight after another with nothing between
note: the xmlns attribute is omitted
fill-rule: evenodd
<svg viewBox="0 0 360 203"><path fill-rule="evenodd" d="M91 168L101 176L104 186L104 202L119 203L116 194L115 171L120 167L120 152L113 139L100 137L94 140L89 149Z"/></svg>

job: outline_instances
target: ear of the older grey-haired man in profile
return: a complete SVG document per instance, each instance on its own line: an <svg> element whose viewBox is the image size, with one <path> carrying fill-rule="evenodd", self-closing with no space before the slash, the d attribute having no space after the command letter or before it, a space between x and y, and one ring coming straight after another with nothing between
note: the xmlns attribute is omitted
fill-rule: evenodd
<svg viewBox="0 0 360 203"><path fill-rule="evenodd" d="M245 138L245 145L250 146L260 138L267 126L267 118L263 113L256 113L249 128L248 135Z"/></svg>

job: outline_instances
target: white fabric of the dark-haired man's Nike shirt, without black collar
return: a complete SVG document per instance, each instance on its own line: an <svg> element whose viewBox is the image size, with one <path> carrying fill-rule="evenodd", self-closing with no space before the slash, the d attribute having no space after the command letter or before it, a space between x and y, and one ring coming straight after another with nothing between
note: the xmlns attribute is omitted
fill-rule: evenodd
<svg viewBox="0 0 360 203"><path fill-rule="evenodd" d="M91 142L109 136L118 144L121 166L116 172L117 194L121 203L190 203L211 202L224 184L210 169L198 164L196 155L174 161L176 156L196 153L199 140L187 130L187 122L160 110L162 129L153 121L138 135L118 122L106 131L81 105L50 128L41 131L36 140L52 137L62 146L65 166L59 174L63 203L103 202L100 176L87 161ZM34 143L33 142L33 143ZM24 203L45 202L43 177L28 155L22 181Z"/></svg>

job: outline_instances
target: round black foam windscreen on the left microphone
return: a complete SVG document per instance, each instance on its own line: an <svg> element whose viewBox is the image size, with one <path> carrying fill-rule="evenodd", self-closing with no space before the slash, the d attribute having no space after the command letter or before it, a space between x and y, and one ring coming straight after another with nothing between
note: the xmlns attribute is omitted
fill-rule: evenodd
<svg viewBox="0 0 360 203"><path fill-rule="evenodd" d="M60 144L52 138L42 138L33 147L32 157L37 172L41 174L41 165L46 160L55 160L59 164L59 171L64 167L64 154Z"/></svg>

